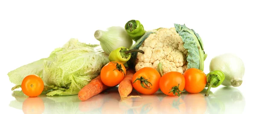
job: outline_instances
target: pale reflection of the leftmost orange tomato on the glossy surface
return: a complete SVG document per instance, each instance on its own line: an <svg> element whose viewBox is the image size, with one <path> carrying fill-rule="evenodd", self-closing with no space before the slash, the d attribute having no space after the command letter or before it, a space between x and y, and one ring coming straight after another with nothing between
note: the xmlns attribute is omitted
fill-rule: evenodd
<svg viewBox="0 0 256 114"><path fill-rule="evenodd" d="M28 97L22 104L24 114L42 114L44 101L40 97Z"/></svg>

